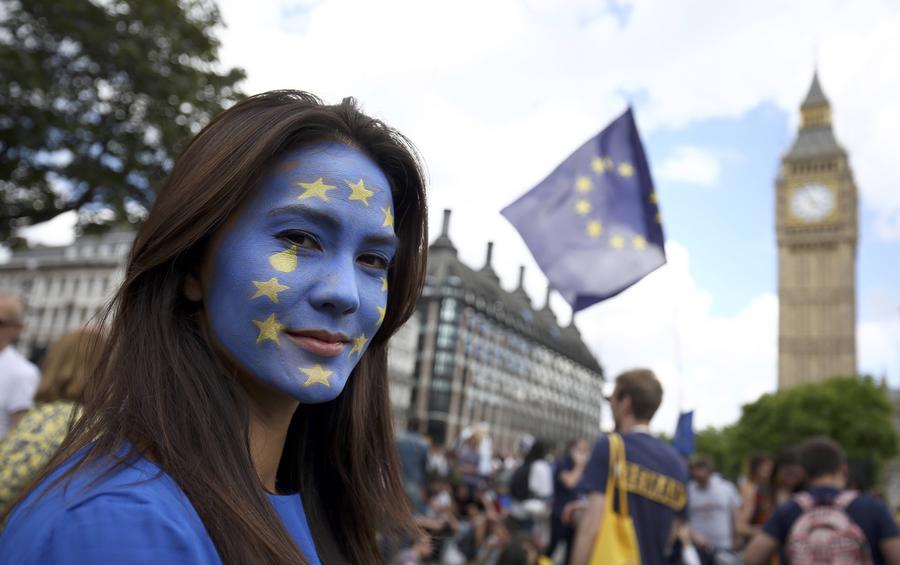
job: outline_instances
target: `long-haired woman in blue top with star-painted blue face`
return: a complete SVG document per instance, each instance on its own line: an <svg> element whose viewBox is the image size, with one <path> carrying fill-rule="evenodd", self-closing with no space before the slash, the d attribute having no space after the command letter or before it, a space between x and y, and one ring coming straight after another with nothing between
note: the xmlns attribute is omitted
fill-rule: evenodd
<svg viewBox="0 0 900 565"><path fill-rule="evenodd" d="M387 340L426 217L411 144L352 99L214 119L137 234L83 416L0 562L381 562L377 533L415 533Z"/></svg>

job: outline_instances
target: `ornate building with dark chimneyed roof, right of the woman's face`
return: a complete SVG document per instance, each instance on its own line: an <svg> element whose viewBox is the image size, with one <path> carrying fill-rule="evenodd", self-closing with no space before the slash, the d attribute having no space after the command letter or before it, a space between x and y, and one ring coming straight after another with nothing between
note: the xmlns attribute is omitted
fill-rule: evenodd
<svg viewBox="0 0 900 565"><path fill-rule="evenodd" d="M528 433L550 442L599 432L603 370L574 323L561 328L519 285L501 288L491 267L463 264L444 211L431 245L419 302L418 360L410 411L438 443L467 426L487 422L494 446L512 447ZM548 293L549 297L549 293Z"/></svg>

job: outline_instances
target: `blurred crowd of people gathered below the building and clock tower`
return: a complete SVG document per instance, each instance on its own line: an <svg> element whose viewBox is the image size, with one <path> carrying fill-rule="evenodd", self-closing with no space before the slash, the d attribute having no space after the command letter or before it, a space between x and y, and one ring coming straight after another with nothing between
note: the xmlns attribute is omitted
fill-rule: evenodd
<svg viewBox="0 0 900 565"><path fill-rule="evenodd" d="M749 454L735 483L711 458L685 458L649 432L661 397L652 373L637 370L621 375L608 398L642 563L900 563L895 520L878 498L848 489L847 460L834 441ZM430 444L419 424L410 421L398 450L426 535L392 548L394 563L603 562L598 536L613 492L608 435L593 448L577 438L555 451L526 436L517 453L492 454L485 425L447 449Z"/></svg>

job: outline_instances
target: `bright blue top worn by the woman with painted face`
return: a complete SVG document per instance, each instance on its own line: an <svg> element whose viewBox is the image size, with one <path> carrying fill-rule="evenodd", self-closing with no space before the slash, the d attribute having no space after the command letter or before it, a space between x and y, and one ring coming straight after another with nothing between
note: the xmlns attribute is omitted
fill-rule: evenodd
<svg viewBox="0 0 900 565"><path fill-rule="evenodd" d="M0 534L0 562L222 562L187 496L147 459L99 480L103 469L82 469L70 483L46 488L80 457L61 465L10 514ZM269 501L301 553L320 565L300 496L269 495Z"/></svg>

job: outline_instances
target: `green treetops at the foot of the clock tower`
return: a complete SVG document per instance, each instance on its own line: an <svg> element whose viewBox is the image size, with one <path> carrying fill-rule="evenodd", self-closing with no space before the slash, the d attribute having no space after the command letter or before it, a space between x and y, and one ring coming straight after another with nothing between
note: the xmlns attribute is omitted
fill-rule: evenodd
<svg viewBox="0 0 900 565"><path fill-rule="evenodd" d="M873 469L897 452L893 407L869 377L832 379L765 394L743 407L737 423L697 434L697 452L735 478L754 452L776 455L812 436L840 443L848 457Z"/></svg>

